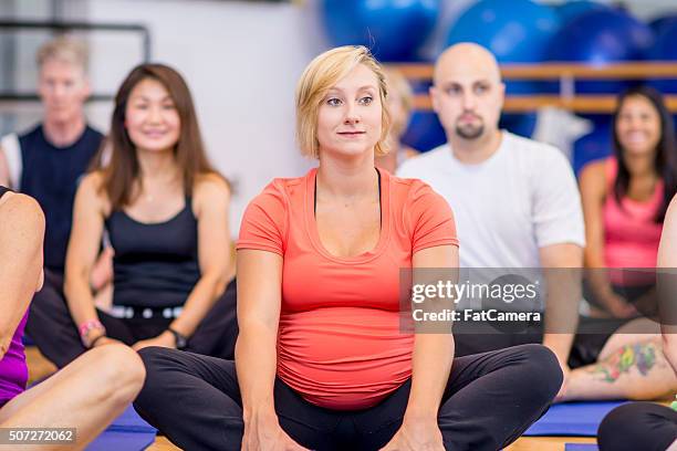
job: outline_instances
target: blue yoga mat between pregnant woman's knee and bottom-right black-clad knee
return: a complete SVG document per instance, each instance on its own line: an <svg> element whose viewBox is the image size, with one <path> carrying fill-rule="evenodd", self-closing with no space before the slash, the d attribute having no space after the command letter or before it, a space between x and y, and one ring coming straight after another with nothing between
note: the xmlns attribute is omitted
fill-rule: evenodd
<svg viewBox="0 0 677 451"><path fill-rule="evenodd" d="M625 401L564 402L554 405L524 436L597 436L602 419Z"/></svg>

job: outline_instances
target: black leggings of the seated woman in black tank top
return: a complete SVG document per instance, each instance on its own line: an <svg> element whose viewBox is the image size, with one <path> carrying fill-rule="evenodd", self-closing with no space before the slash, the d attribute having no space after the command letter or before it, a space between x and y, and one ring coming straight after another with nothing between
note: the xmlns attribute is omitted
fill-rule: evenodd
<svg viewBox="0 0 677 451"><path fill-rule="evenodd" d="M188 350L233 358L238 338L236 298L237 287L233 280L188 340ZM126 345L158 336L174 321L165 317L117 318L100 310L96 313L106 328L106 334ZM86 350L69 312L61 274L45 270L44 286L33 296L25 331L40 352L59 368L63 368Z"/></svg>

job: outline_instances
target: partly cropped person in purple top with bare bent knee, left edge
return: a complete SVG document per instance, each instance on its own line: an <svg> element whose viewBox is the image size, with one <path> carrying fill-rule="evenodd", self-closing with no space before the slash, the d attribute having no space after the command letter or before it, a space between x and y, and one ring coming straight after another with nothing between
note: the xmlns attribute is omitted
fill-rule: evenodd
<svg viewBox="0 0 677 451"><path fill-rule="evenodd" d="M31 297L42 287L43 235L38 203L0 187L0 430L67 428L55 447L80 450L132 402L145 371L134 350L107 345L25 389L21 339Z"/></svg>

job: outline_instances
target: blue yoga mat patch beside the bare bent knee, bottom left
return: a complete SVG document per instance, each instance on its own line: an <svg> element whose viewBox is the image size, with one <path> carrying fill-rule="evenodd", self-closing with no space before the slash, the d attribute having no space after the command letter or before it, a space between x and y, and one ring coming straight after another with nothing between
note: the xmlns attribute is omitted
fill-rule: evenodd
<svg viewBox="0 0 677 451"><path fill-rule="evenodd" d="M87 447L87 451L140 451L155 442L157 430L145 422L132 406Z"/></svg>

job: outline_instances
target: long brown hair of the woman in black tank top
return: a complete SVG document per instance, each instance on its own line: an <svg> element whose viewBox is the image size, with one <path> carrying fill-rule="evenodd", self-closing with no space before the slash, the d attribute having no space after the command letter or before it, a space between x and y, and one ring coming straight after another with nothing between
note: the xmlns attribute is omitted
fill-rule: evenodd
<svg viewBox="0 0 677 451"><path fill-rule="evenodd" d="M125 127L125 111L132 90L147 78L156 80L165 86L180 117L180 134L174 155L183 175L185 195L192 195L192 185L197 176L218 175L207 158L192 97L181 75L164 64L140 64L129 72L115 95L111 132L106 139L111 160L102 168L101 189L108 196L113 210L118 210L133 201L132 188L140 178L136 149Z"/></svg>

